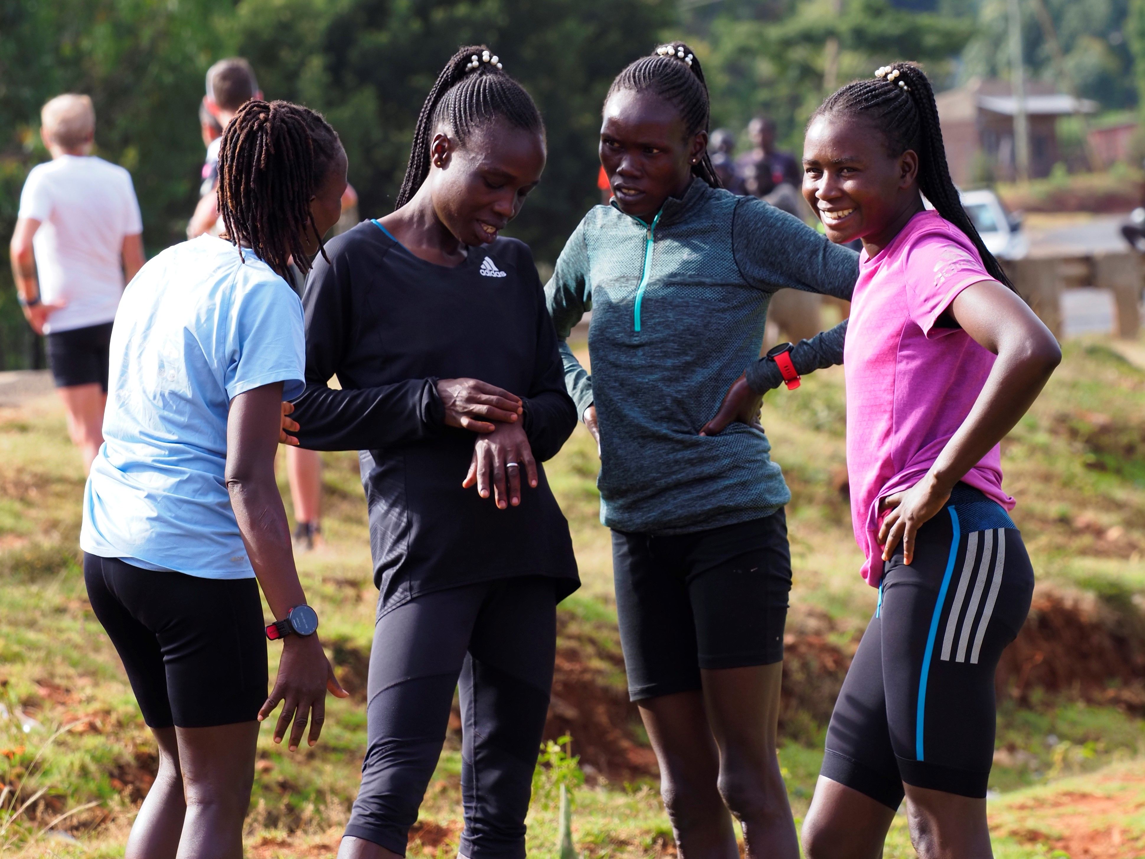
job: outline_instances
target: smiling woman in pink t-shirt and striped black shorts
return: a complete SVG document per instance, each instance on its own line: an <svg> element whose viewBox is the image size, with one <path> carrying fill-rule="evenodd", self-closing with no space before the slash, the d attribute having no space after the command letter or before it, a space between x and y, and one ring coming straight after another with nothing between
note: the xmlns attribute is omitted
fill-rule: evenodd
<svg viewBox="0 0 1145 859"><path fill-rule="evenodd" d="M862 575L879 594L804 848L879 856L905 795L919 856L988 857L994 671L1034 586L998 442L1061 353L963 211L917 66L830 96L804 167L828 237L863 243L844 349L847 470Z"/></svg>

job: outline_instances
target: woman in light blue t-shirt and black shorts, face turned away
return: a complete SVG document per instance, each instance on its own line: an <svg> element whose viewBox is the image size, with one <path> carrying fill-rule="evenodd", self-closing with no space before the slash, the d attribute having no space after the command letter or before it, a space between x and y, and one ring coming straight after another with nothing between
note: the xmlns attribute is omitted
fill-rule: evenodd
<svg viewBox="0 0 1145 859"><path fill-rule="evenodd" d="M337 221L346 153L326 121L247 102L220 156L221 238L148 262L111 333L104 444L84 497L84 578L159 746L127 859L239 859L259 723L322 731L334 679L275 482L281 403L303 386L287 285ZM264 626L259 585L274 613ZM267 698L267 638L284 638ZM291 720L293 719L293 728Z"/></svg>

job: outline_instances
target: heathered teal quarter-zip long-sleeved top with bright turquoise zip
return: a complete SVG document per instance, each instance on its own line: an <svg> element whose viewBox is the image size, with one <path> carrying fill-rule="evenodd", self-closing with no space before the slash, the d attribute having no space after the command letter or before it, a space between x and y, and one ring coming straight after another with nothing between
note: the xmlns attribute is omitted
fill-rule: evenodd
<svg viewBox="0 0 1145 859"><path fill-rule="evenodd" d="M698 179L649 222L614 206L584 216L545 300L577 412L597 408L605 525L684 534L788 503L764 433L700 428L757 362L775 291L850 298L858 270L853 251L797 218ZM591 376L566 342L590 310Z"/></svg>

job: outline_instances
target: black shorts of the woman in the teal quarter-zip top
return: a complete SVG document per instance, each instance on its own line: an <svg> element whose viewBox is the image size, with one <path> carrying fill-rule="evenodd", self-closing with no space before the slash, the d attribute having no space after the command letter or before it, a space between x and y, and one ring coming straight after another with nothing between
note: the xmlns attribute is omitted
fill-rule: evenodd
<svg viewBox="0 0 1145 859"><path fill-rule="evenodd" d="M783 510L693 534L614 530L613 575L633 701L698 689L702 668L783 661Z"/></svg>

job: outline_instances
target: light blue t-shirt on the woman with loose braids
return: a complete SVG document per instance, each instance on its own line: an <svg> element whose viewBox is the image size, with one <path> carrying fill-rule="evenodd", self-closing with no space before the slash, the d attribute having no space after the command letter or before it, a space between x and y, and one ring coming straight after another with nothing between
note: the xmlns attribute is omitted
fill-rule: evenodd
<svg viewBox="0 0 1145 859"><path fill-rule="evenodd" d="M103 447L80 546L150 569L251 578L230 506L227 413L244 391L302 393L302 306L252 252L200 236L150 260L111 333Z"/></svg>

